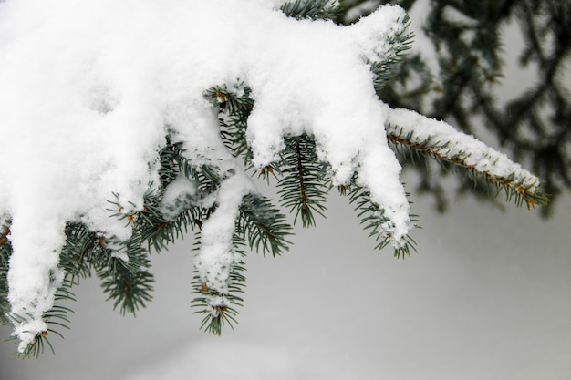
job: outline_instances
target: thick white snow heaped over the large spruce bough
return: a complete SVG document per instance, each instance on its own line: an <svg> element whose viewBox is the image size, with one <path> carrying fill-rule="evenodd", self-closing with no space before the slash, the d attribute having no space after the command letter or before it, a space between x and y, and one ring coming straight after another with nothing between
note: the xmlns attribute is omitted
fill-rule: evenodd
<svg viewBox="0 0 571 380"><path fill-rule="evenodd" d="M123 207L142 208L149 184L158 183L157 150L167 135L192 157L235 165L203 97L214 85L244 80L253 88L247 133L254 164L275 159L283 136L313 134L334 181L345 183L358 170L359 182L395 221L395 241L407 233L400 165L382 128L387 110L365 62L383 54L404 12L385 6L341 27L296 21L271 3L0 4L0 215L12 221L8 299L13 313L28 318L16 327L21 350L46 328L42 314L63 278L57 264L66 221L127 239L130 227L109 218L108 200L117 193ZM240 198L226 188L252 191L242 176L235 181L219 193L213 226L203 227L212 242L198 261L205 278L223 276L214 267L233 260L220 253L231 236L220 240L220 231L209 231L222 225L232 233Z"/></svg>

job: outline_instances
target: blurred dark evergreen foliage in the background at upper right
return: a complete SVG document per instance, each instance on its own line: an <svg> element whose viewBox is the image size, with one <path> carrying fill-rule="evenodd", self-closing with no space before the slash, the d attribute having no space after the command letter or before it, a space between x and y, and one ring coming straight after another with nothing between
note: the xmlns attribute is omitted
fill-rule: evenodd
<svg viewBox="0 0 571 380"><path fill-rule="evenodd" d="M342 20L350 24L368 15L383 0L347 0ZM417 0L394 0L410 10ZM529 73L529 87L505 102L498 89L506 74L504 33L517 27L523 46L517 56ZM467 133L483 125L517 161L545 180L553 200L571 189L571 1L431 0L424 32L438 58L437 71L415 52L395 70L391 86L377 88L391 107L414 109L430 118L447 120ZM420 50L423 50L424 47ZM428 162L428 161L427 161ZM440 210L447 207L439 176L447 169L414 165L422 179L420 191L431 193ZM448 168L448 167L447 167ZM484 182L462 182L461 192L488 192ZM484 196L483 200L493 200ZM555 207L552 201L543 215Z"/></svg>

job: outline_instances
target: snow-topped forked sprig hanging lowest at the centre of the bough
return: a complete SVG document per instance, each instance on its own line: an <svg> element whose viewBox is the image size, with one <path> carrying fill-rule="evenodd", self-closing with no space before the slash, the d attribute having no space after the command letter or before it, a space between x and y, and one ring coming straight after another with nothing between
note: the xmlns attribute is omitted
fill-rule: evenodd
<svg viewBox="0 0 571 380"><path fill-rule="evenodd" d="M201 327L221 334L223 324L233 325L242 305L244 287L244 246L272 256L288 250L291 226L285 215L260 195L251 192L243 175L234 174L220 184L213 213L201 225L194 259L196 274L192 282L192 301L202 313ZM246 186L244 186L246 185Z"/></svg>

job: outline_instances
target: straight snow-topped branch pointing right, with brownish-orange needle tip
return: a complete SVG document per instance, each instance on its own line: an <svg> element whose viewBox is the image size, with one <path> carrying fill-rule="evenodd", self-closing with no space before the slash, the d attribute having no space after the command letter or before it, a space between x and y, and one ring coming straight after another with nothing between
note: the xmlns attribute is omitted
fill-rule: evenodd
<svg viewBox="0 0 571 380"><path fill-rule="evenodd" d="M410 154L427 154L463 169L469 176L480 176L496 185L498 190L503 189L508 200L514 198L518 206L523 202L528 208L544 206L549 201L535 175L503 153L443 121L426 118L408 109L391 109L385 128L389 140L411 149Z"/></svg>

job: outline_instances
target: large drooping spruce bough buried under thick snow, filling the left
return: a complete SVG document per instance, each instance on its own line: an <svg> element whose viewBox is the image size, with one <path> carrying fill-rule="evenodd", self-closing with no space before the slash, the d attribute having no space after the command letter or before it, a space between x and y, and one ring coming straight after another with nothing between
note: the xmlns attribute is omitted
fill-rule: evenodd
<svg viewBox="0 0 571 380"><path fill-rule="evenodd" d="M375 93L408 46L407 15L383 6L342 27L312 21L307 2L299 20L264 3L0 4L0 309L20 353L67 327L61 302L92 271L135 313L151 299L149 253L189 227L202 327L234 323L244 246L280 254L291 230L240 159L281 176L281 203L306 226L337 186L379 248L409 252L414 220L382 128L406 120Z"/></svg>

